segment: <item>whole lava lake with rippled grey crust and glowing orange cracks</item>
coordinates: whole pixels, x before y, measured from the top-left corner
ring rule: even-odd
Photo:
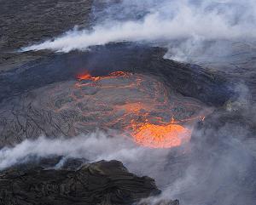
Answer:
[[[154,148],[188,141],[206,107],[167,90],[154,76],[121,71],[104,77],[79,75],[77,81],[34,89],[2,105],[0,145],[42,134],[71,137],[99,128],[118,130]]]

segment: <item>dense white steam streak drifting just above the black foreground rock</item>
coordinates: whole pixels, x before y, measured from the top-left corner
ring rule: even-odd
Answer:
[[[117,148],[113,151],[113,146]],[[16,163],[26,161],[27,156],[49,157],[52,155],[65,157],[85,157],[90,161],[105,158],[113,159],[112,155],[132,157],[133,149],[137,149],[131,140],[123,137],[108,138],[107,134],[96,132],[81,135],[72,139],[47,139],[40,137],[37,140],[24,140],[13,148],[5,147],[0,150],[0,169],[8,168]],[[126,151],[129,152],[126,153]],[[130,155],[127,155],[129,154]],[[133,160],[133,157],[132,157]]]

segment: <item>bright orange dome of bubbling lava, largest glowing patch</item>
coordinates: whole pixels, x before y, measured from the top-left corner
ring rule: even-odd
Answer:
[[[191,131],[178,124],[154,125],[145,123],[133,134],[134,140],[139,145],[150,148],[170,148],[189,141]]]

